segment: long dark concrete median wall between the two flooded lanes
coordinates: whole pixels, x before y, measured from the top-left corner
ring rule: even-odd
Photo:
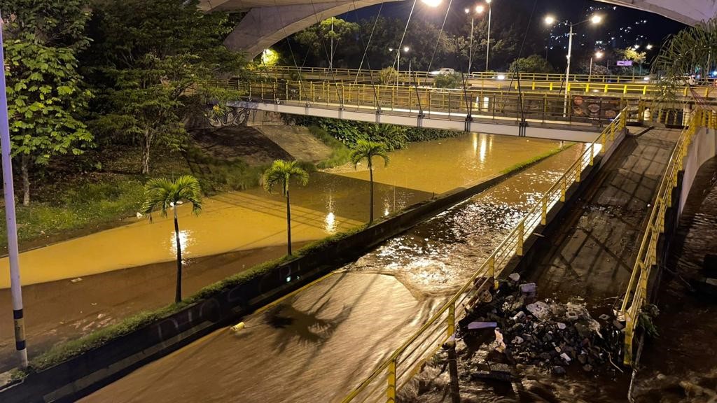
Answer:
[[[527,167],[525,167],[527,168]],[[523,169],[525,169],[523,168]],[[143,364],[164,356],[223,326],[236,323],[256,308],[326,275],[456,203],[516,174],[493,176],[409,207],[316,252],[286,262],[245,283],[216,294],[120,336],[97,349],[0,389],[0,402],[72,402]]]

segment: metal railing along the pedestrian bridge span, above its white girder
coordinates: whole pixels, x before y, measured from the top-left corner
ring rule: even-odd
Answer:
[[[522,120],[607,125],[620,110],[640,108],[640,96],[519,94],[484,89],[440,89],[340,82],[239,81],[227,86],[247,100],[301,106],[324,105],[343,110],[391,111],[393,115],[422,115],[432,119]]]

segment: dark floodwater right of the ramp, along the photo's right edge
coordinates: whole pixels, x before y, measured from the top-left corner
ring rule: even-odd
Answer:
[[[717,300],[688,285],[703,260],[717,254],[717,158],[695,176],[660,285],[657,338],[642,351],[635,382],[638,403],[717,401]]]

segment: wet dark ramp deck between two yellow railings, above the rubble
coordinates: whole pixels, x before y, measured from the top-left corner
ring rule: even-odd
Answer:
[[[538,249],[533,279],[543,297],[587,300],[597,315],[624,292],[679,130],[628,136],[595,183]],[[618,307],[619,308],[619,307]]]

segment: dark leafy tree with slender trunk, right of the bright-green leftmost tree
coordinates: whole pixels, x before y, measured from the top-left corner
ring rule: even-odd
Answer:
[[[227,14],[191,0],[107,0],[95,4],[95,44],[87,59],[101,97],[95,125],[108,136],[141,139],[141,171],[155,146],[180,150],[184,122],[208,103],[232,98],[219,77],[239,75],[244,59],[222,43]]]

